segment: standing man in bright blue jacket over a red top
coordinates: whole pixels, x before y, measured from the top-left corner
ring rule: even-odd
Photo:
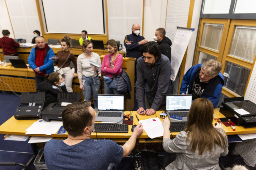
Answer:
[[[35,85],[39,91],[39,84],[45,80],[44,75],[54,70],[54,61],[50,58],[55,57],[55,54],[43,37],[35,38],[35,43],[37,46],[31,49],[28,64],[35,72]]]

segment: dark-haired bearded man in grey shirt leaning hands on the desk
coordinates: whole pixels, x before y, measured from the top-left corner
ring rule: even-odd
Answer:
[[[167,56],[161,54],[159,45],[154,41],[142,47],[141,55],[137,62],[136,99],[139,107],[137,112],[140,115],[150,116],[156,111],[166,109],[166,95],[171,94],[171,65]]]

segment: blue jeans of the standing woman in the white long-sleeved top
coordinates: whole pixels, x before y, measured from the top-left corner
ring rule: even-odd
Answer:
[[[84,86],[84,100],[91,101],[91,94],[93,94],[94,108],[98,108],[98,94],[101,85],[99,76],[85,77],[83,75],[82,84]]]

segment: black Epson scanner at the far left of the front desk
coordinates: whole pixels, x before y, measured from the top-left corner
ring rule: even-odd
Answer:
[[[17,120],[41,119],[45,92],[22,92],[20,105],[14,114]]]

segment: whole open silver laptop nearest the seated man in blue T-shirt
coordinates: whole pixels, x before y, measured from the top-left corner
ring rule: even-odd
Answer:
[[[98,95],[95,121],[122,122],[124,108],[124,95]]]

